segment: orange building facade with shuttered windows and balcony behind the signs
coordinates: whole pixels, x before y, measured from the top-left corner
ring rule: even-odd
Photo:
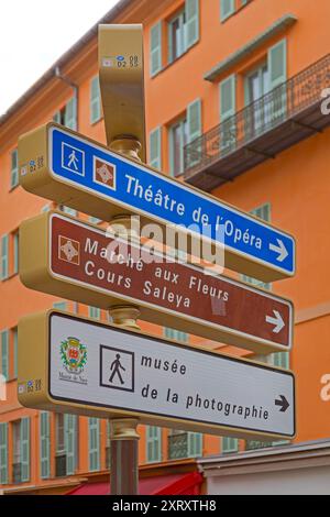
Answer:
[[[330,436],[330,118],[321,111],[330,87],[329,19],[328,0],[312,9],[309,0],[121,0],[101,21],[144,24],[150,164],[297,240],[297,275],[262,285],[293,299],[294,349],[258,358],[297,375],[297,442]],[[106,486],[109,476],[108,422],[30,410],[16,399],[22,316],[55,306],[108,320],[97,308],[28,290],[18,275],[20,222],[54,207],[19,187],[18,139],[56,120],[106,142],[97,62],[94,28],[0,119],[0,372],[7,378],[0,490],[6,494],[69,493],[91,482]],[[65,200],[57,208],[73,212]],[[252,356],[173,329],[141,327]],[[263,447],[153,427],[141,426],[140,432],[141,477],[168,482],[174,474],[190,474],[180,488],[186,493],[200,491],[200,480],[191,481],[196,458]]]

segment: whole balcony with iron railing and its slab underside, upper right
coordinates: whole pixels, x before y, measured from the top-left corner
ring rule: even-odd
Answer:
[[[186,145],[185,180],[211,190],[322,131],[329,87],[330,54]]]

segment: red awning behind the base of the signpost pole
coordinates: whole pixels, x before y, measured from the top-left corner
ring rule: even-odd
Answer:
[[[199,495],[202,476],[198,472],[140,480],[140,495]],[[109,483],[86,483],[67,495],[110,495]]]

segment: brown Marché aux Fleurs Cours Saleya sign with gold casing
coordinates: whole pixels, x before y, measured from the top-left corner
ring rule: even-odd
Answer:
[[[30,288],[103,309],[134,305],[146,321],[207,339],[260,353],[292,348],[290,301],[56,211],[22,223],[20,273]]]

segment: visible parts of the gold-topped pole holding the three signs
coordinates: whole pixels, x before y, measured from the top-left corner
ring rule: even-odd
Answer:
[[[99,26],[99,69],[109,148],[145,162],[145,102],[142,25]],[[140,241],[132,218],[121,215],[110,222],[118,237]],[[109,308],[116,324],[140,329],[134,306]],[[139,493],[138,420],[111,420],[111,495]]]

